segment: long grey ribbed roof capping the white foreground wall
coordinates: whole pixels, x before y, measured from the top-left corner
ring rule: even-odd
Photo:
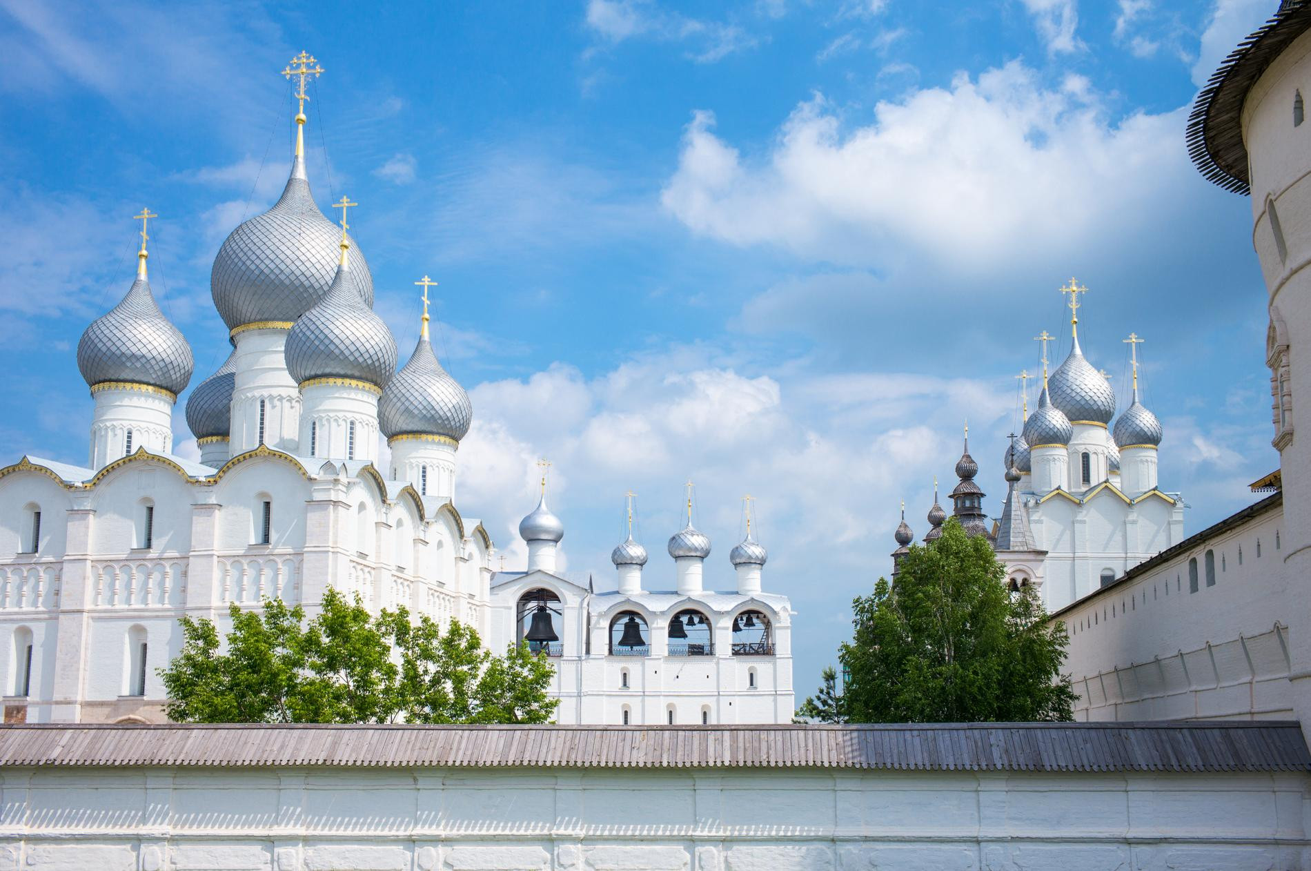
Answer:
[[[1307,771],[1295,721],[0,727],[0,766]]]

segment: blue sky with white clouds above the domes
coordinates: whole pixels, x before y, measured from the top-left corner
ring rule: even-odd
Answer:
[[[648,585],[671,586],[691,477],[730,588],[754,495],[804,697],[888,571],[898,500],[922,535],[932,476],[950,489],[965,418],[1000,510],[1013,376],[1042,329],[1065,357],[1071,274],[1121,397],[1120,340],[1147,340],[1189,533],[1277,466],[1249,202],[1184,148],[1198,87],[1276,5],[0,0],[0,445],[85,462],[73,349],[131,282],[143,205],[193,386],[222,362],[210,264],[286,180],[278,71],[304,49],[326,70],[313,190],[361,203],[402,355],[412,282],[440,282],[439,353],[475,403],[460,510],[520,563],[547,455],[569,572],[614,584],[632,488]]]

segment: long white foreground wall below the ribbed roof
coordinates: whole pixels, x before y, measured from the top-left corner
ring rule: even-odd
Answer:
[[[0,868],[1307,868],[1306,775],[7,769]]]

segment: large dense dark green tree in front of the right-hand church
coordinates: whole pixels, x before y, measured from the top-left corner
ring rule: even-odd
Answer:
[[[1049,626],[1030,590],[1011,594],[987,540],[966,537],[954,518],[852,610],[853,639],[839,653],[851,721],[1074,719],[1074,689],[1061,674],[1065,624]],[[823,690],[802,708],[812,702],[823,710]]]

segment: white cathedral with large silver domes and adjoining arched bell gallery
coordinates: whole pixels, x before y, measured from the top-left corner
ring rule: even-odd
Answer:
[[[616,592],[556,573],[564,526],[545,505],[519,526],[526,572],[493,571],[482,525],[456,508],[472,405],[422,332],[397,348],[372,311],[368,264],[309,190],[302,52],[296,144],[281,199],[240,224],[214,261],[232,354],[186,400],[201,462],[173,453],[173,408],[191,349],[147,275],[77,345],[94,416],[87,466],[25,455],[0,468],[0,679],[5,721],[160,721],[156,669],[181,648],[178,618],[266,598],[313,611],[330,586],[367,607],[404,605],[475,627],[501,652],[551,657],[560,723],[787,723],[791,605],[762,592],[764,548],[733,548],[732,592],[707,589],[711,542],[669,543],[675,589],[646,590],[646,551],[612,556]],[[391,463],[379,463],[380,437]],[[691,500],[688,502],[691,505]]]

